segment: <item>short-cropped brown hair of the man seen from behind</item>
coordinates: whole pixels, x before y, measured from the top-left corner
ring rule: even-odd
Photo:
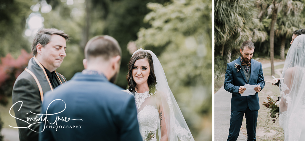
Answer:
[[[108,35],[95,36],[85,46],[85,58],[102,57],[106,61],[117,55],[121,56],[121,48],[116,39]]]

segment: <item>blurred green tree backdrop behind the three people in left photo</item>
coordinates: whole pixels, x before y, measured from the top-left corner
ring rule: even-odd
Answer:
[[[122,48],[116,84],[127,88],[127,43],[135,41],[137,48],[152,50],[159,58],[195,140],[212,139],[212,0],[74,0],[69,6],[66,0],[46,2],[52,10],[41,13],[44,27],[71,37],[57,72],[70,80],[84,69],[88,39],[110,35]],[[0,57],[10,53],[17,58],[21,49],[30,53],[32,37],[24,31],[34,13],[30,7],[37,3],[41,1],[0,1]],[[75,15],[75,9],[82,13]]]

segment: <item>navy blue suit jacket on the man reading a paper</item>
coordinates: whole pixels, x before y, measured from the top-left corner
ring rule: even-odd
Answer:
[[[238,93],[239,87],[245,86],[245,84],[247,83],[246,76],[243,70],[239,69],[239,72],[237,72],[237,68],[235,68],[234,66],[234,63],[241,64],[239,58],[227,64],[227,70],[224,79],[224,89],[232,93],[231,110],[244,111],[247,109],[248,106],[249,109],[252,111],[259,110],[260,103],[257,93],[255,95],[249,96],[241,96],[241,94]],[[251,59],[251,74],[249,83],[247,84],[258,84],[260,85],[261,90],[265,86],[262,63],[254,59]]]

